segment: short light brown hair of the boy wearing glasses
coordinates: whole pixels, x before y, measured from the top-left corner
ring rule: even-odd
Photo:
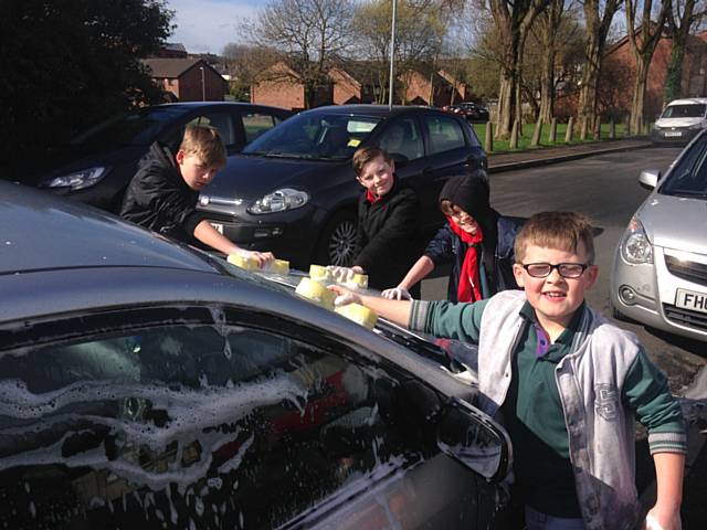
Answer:
[[[516,236],[516,263],[524,262],[529,245],[577,253],[580,243],[584,243],[588,263],[594,263],[594,235],[584,215],[577,212],[536,213]]]

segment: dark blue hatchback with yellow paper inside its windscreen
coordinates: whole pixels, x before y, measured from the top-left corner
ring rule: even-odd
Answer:
[[[437,195],[450,177],[487,167],[466,120],[429,107],[341,105],[294,116],[229,158],[200,209],[231,240],[273,251],[299,267],[350,265],[361,186],[351,157],[380,145],[395,176],[415,189],[423,230],[442,225]]]

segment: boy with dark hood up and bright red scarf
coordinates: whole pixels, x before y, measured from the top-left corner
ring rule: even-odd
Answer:
[[[486,174],[477,170],[452,177],[440,193],[440,209],[446,225],[398,287],[383,290],[382,296],[410,298],[412,287],[446,263],[452,263],[450,301],[476,301],[518,288],[513,275],[513,245],[520,225],[490,208]]]

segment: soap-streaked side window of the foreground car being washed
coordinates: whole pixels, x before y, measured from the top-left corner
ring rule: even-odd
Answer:
[[[0,521],[272,528],[419,459],[384,370],[214,315],[1,357]]]

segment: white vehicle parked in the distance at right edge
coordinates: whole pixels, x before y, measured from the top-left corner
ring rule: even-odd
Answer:
[[[651,140],[654,144],[687,144],[707,128],[707,98],[675,99],[655,121]]]

